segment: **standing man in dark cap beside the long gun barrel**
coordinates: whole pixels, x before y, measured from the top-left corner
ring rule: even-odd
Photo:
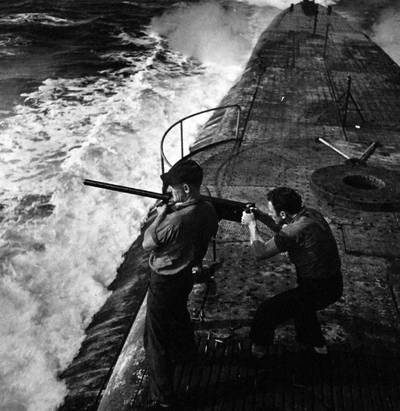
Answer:
[[[218,219],[213,205],[200,197],[203,171],[195,161],[179,161],[161,179],[172,204],[157,207],[143,238],[151,269],[144,346],[150,380],[148,409],[175,410],[174,362],[195,352],[187,310],[192,268],[201,265]]]

